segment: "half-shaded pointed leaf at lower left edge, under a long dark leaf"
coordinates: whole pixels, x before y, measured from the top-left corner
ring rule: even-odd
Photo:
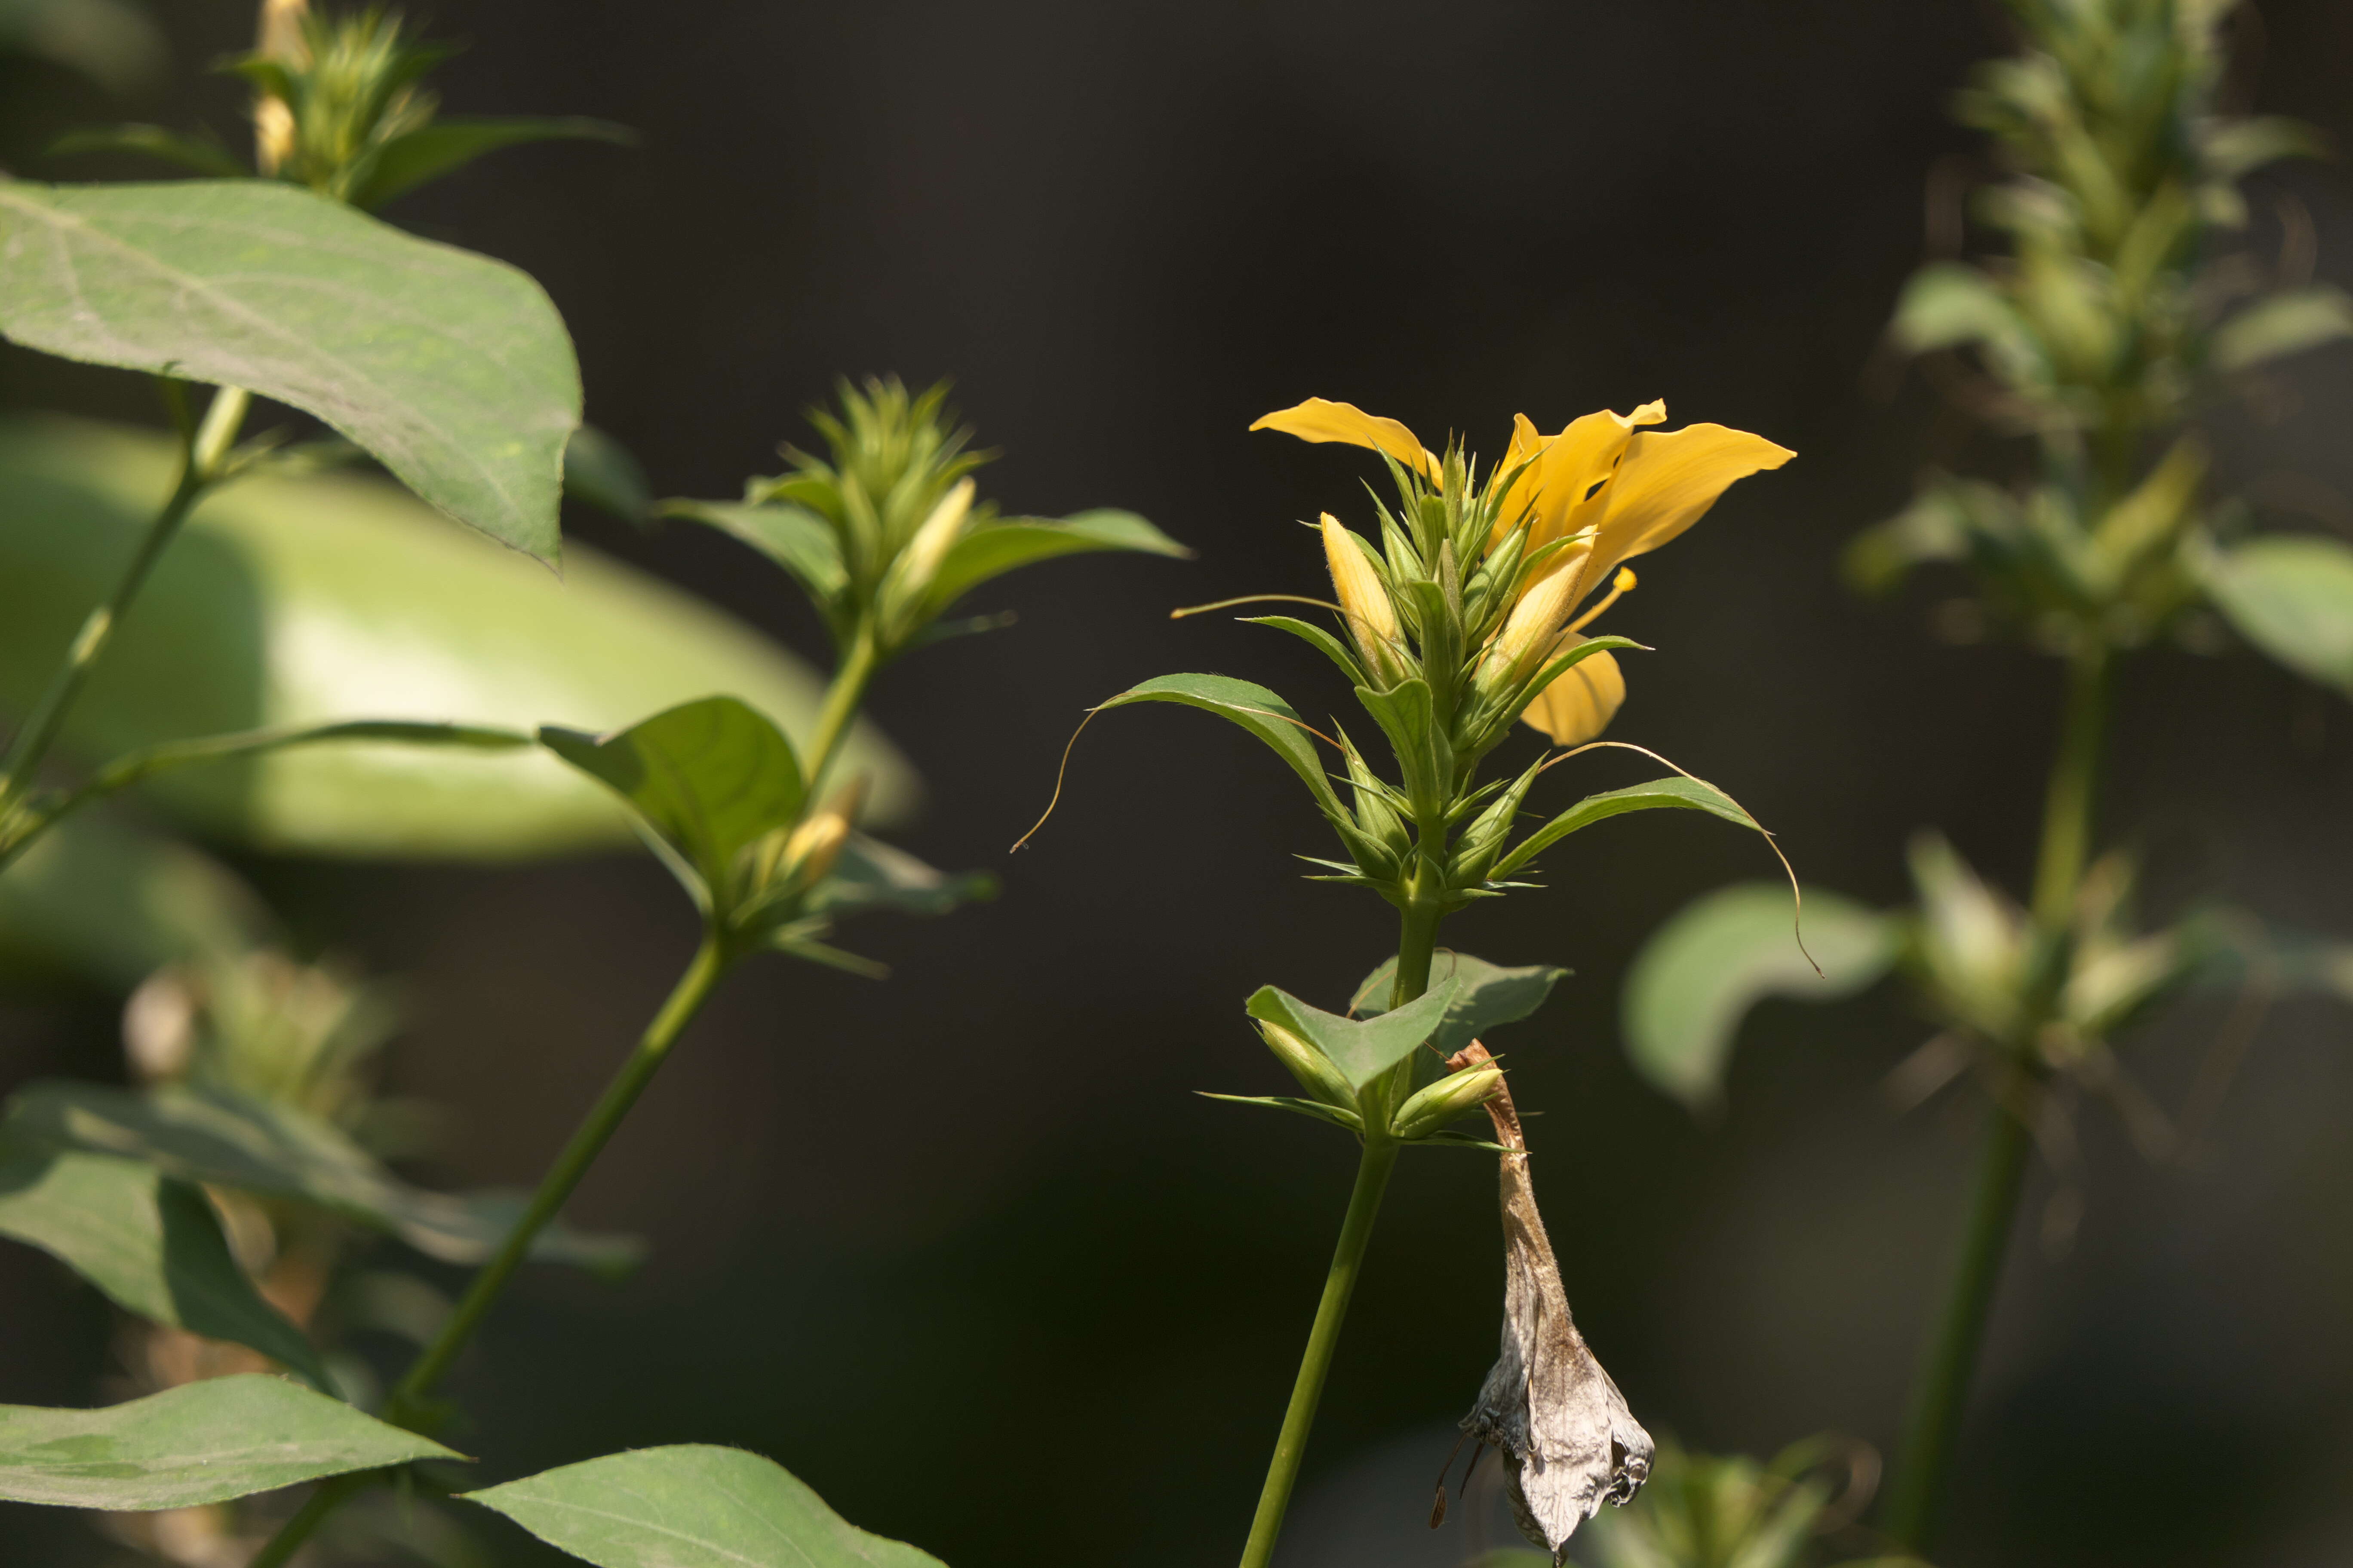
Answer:
[[[259,1349],[327,1387],[311,1340],[228,1253],[205,1194],[155,1166],[75,1150],[0,1152],[0,1234],[49,1253],[125,1312]]]

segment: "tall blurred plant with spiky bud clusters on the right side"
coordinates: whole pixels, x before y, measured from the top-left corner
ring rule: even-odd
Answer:
[[[2341,292],[2268,277],[2228,244],[2247,221],[2240,176],[2311,153],[2285,120],[2221,108],[2231,0],[2012,0],[2024,47],[1984,66],[1958,113],[1986,129],[2005,176],[1974,214],[2000,235],[1977,263],[1920,270],[1894,341],[1941,355],[1955,397],[2017,437],[2000,477],[1932,475],[1899,517],[1847,550],[1866,590],[1918,567],[1960,567],[1948,625],[2012,635],[2064,668],[2064,717],[2026,903],[1979,879],[1934,835],[1913,846],[1918,903],[1878,914],[1809,893],[1824,976],[1779,952],[1786,903],[1727,889],[1675,917],[1626,985],[1626,1039],[1666,1091],[1720,1093],[1746,1009],[1765,994],[1828,999],[1901,966],[1939,1034],[1897,1074],[1911,1100],[1974,1072],[1993,1095],[1986,1147],[1887,1493],[1885,1523],[1927,1549],[1979,1340],[2035,1135],[2068,1140],[2082,1095],[2120,1107],[2144,1147],[2167,1121],[2111,1041],[2202,969],[2245,959],[2245,917],[2144,931],[2132,860],[2094,856],[2097,780],[2120,663],[2174,639],[2219,642],[2217,614],[2289,670],[2353,693],[2353,545],[2257,534],[2209,475],[2200,414],[2271,360],[2353,334]],[[2327,983],[2327,961],[2257,959],[2271,983]],[[2339,987],[2341,990],[2341,987]],[[2049,1220],[2071,1225],[2061,1197]]]

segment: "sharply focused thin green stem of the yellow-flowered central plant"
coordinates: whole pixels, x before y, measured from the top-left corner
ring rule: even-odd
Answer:
[[[1405,1006],[1428,990],[1431,954],[1435,950],[1438,907],[1407,905],[1398,931],[1398,983],[1391,990],[1393,1009]],[[1412,1063],[1402,1063],[1398,1072],[1412,1074]],[[1292,1403],[1282,1410],[1275,1458],[1266,1465],[1266,1486],[1259,1488],[1259,1512],[1249,1519],[1242,1568],[1266,1568],[1273,1561],[1275,1540],[1282,1535],[1282,1514],[1289,1509],[1292,1488],[1299,1483],[1299,1462],[1306,1458],[1308,1432],[1315,1427],[1315,1406],[1322,1401],[1322,1385],[1332,1373],[1332,1356],[1339,1352],[1339,1331],[1348,1319],[1348,1298],[1355,1295],[1355,1279],[1365,1267],[1365,1248],[1372,1244],[1372,1222],[1381,1213],[1381,1194],[1388,1192],[1388,1173],[1398,1164],[1398,1140],[1388,1135],[1386,1121],[1391,1091],[1393,1084],[1384,1077],[1358,1098],[1365,1110],[1365,1152],[1355,1166],[1355,1190],[1348,1192],[1348,1218],[1339,1225],[1339,1246],[1332,1248],[1325,1293],[1315,1305],[1315,1326],[1308,1328],[1308,1347],[1299,1356],[1299,1380],[1292,1382]]]

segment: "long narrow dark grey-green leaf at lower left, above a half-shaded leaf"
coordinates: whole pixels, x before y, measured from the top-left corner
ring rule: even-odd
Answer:
[[[219,1086],[139,1095],[99,1084],[31,1084],[9,1095],[0,1138],[12,1150],[115,1154],[191,1182],[318,1204],[442,1262],[489,1260],[522,1211],[506,1194],[412,1187],[327,1121]],[[638,1244],[551,1225],[532,1241],[532,1258],[614,1272],[638,1260]]]

